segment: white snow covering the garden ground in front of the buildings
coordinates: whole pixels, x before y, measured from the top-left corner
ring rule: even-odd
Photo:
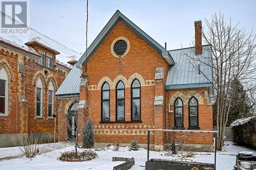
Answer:
[[[140,149],[139,151],[129,151],[129,148],[120,147],[119,151],[113,151],[113,147],[109,147],[105,151],[96,151],[98,159],[87,162],[62,162],[58,161],[61,152],[74,150],[74,145],[69,142],[58,142],[50,144],[41,144],[45,153],[37,155],[32,161],[20,157],[18,147],[12,148],[0,148],[0,169],[93,169],[93,170],[105,170],[113,169],[122,162],[112,162],[112,157],[134,157],[135,165],[132,170],[145,169],[143,166],[146,161],[146,150]],[[78,149],[81,151],[83,149]],[[93,149],[94,150],[94,149]],[[217,169],[233,169],[233,165],[236,163],[236,156],[241,151],[251,151],[247,148],[233,145],[229,142],[229,145],[224,146],[224,151],[217,152]],[[253,151],[255,153],[255,151]],[[177,159],[177,157],[164,156],[166,152],[150,151],[150,158],[160,159]],[[214,153],[197,152],[193,161],[214,163]],[[13,158],[4,159],[12,156]],[[17,158],[15,158],[15,156]],[[140,166],[141,165],[141,166]]]

